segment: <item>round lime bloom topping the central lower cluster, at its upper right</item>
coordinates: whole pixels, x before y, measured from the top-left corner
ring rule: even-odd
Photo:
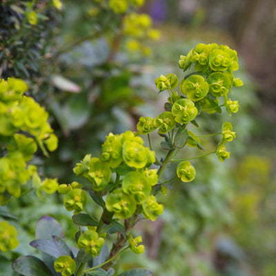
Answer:
[[[141,144],[126,141],[123,146],[123,159],[132,168],[144,168],[148,163],[148,150]]]

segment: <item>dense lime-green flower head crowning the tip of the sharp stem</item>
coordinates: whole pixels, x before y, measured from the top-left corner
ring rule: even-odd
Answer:
[[[184,71],[191,66],[198,72],[181,81],[179,89],[192,101],[198,101],[201,111],[220,112],[218,97],[224,97],[229,115],[237,112],[237,101],[228,99],[233,86],[242,86],[233,71],[239,68],[237,52],[225,45],[199,43],[188,55],[180,56],[179,67]]]

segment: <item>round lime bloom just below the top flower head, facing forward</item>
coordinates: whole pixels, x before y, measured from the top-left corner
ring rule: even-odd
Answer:
[[[179,124],[188,124],[197,117],[197,108],[190,99],[179,99],[172,106],[172,115]]]

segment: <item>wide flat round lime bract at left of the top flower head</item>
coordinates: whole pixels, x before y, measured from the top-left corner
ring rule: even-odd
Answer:
[[[191,75],[187,79],[181,81],[179,88],[182,94],[187,95],[188,99],[199,101],[208,94],[209,85],[204,77],[200,75]]]

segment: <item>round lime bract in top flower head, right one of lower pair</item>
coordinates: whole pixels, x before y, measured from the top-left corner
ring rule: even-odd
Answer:
[[[221,97],[228,93],[230,79],[223,72],[214,72],[206,81],[209,83],[209,91],[214,97]]]

